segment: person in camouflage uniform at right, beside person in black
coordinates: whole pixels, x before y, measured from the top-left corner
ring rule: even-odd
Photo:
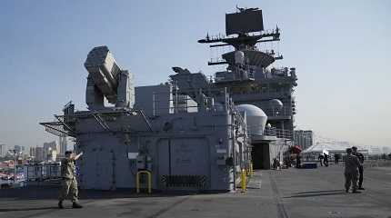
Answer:
[[[346,193],[349,192],[350,184],[352,183],[352,193],[357,192],[357,176],[358,176],[358,166],[361,163],[358,161],[358,158],[352,154],[351,148],[346,148],[346,162],[345,162],[345,188]]]

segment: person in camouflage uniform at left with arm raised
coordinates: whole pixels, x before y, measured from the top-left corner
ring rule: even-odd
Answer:
[[[65,158],[61,162],[61,177],[63,178],[63,181],[58,199],[58,207],[60,209],[64,208],[63,201],[69,192],[72,194],[72,207],[82,208],[82,205],[78,203],[77,181],[75,175],[75,160],[79,159],[81,155],[83,155],[83,153],[76,155],[71,151],[66,151]]]

